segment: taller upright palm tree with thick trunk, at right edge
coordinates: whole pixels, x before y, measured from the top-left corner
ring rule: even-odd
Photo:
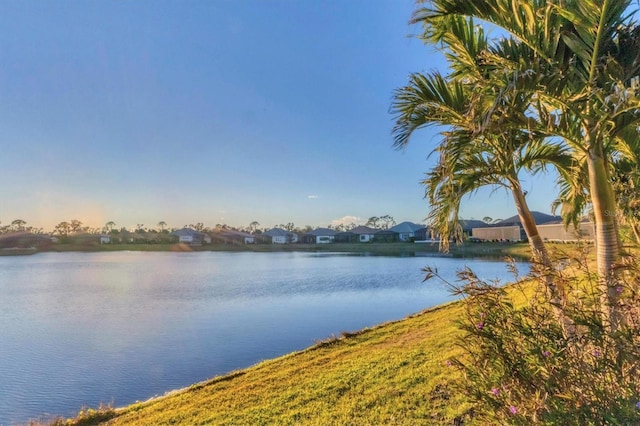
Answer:
[[[549,137],[560,137],[587,170],[587,190],[596,222],[601,310],[614,331],[621,321],[614,274],[619,260],[616,200],[610,180],[613,156],[638,139],[638,28],[627,14],[629,0],[433,0],[414,15],[425,38],[442,41],[452,22],[474,17],[502,28],[506,43],[527,51],[520,61],[478,57],[495,69],[533,78],[520,87],[531,94],[521,112]],[[467,73],[469,74],[469,73]],[[637,144],[636,144],[637,146]]]

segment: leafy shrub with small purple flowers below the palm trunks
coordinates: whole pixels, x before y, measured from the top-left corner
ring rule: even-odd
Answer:
[[[464,375],[460,384],[474,402],[481,424],[640,424],[640,326],[638,259],[626,265],[624,294],[627,321],[606,332],[593,274],[584,257],[563,271],[534,265],[526,280],[511,269],[516,284],[501,287],[480,280],[471,270],[447,283],[461,295],[465,331],[459,342],[465,356],[450,360]],[[426,269],[427,279],[439,277]],[[564,336],[544,291],[553,274],[569,296],[563,307],[576,332]],[[533,284],[533,285],[532,285]]]

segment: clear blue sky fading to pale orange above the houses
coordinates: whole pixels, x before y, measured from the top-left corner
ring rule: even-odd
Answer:
[[[0,221],[52,230],[421,222],[435,131],[392,148],[410,0],[0,2]],[[548,213],[553,179],[527,179]],[[488,197],[491,196],[489,199]],[[515,214],[480,191],[464,218]]]

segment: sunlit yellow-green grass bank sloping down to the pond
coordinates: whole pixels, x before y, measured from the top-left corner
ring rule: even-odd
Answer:
[[[458,255],[527,252],[526,245],[469,246],[457,248]],[[461,354],[456,321],[462,314],[462,305],[454,302],[343,333],[306,350],[117,409],[109,423],[452,424],[471,407],[455,387],[460,373],[447,365]]]

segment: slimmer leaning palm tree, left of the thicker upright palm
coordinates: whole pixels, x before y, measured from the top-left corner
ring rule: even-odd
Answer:
[[[448,250],[450,238],[462,237],[458,223],[462,198],[482,186],[503,187],[513,195],[535,260],[550,270],[551,260],[528,207],[520,173],[535,173],[547,165],[564,167],[569,157],[563,147],[546,142],[544,133],[531,128],[532,120],[524,114],[531,95],[520,91],[511,76],[502,81],[503,75],[493,72],[495,64],[486,60],[491,55],[513,58],[522,55],[522,49],[509,43],[490,46],[473,19],[456,18],[449,24],[451,30],[441,31],[438,38],[447,48],[453,71],[449,77],[437,72],[414,74],[409,85],[396,91],[394,145],[405,147],[422,127],[447,126],[435,149],[439,161],[423,181],[431,205],[428,219],[441,235],[443,250]],[[480,54],[483,61],[477,58]],[[572,324],[560,308],[563,289],[556,287],[549,274],[546,287],[565,333],[571,333]]]

